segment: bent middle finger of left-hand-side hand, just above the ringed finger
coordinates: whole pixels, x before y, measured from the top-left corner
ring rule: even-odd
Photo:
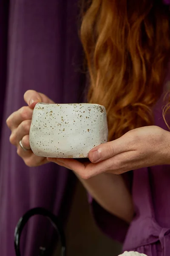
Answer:
[[[19,141],[23,139],[27,134],[29,134],[31,126],[31,120],[24,120],[20,123],[17,129],[14,129],[14,131],[11,133],[10,136],[10,142],[13,145],[18,145]],[[27,143],[28,144],[28,143]],[[30,149],[30,146],[28,146]]]

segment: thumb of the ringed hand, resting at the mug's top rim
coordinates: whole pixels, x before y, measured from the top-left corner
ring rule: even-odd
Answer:
[[[54,103],[43,93],[38,93],[35,90],[27,90],[24,94],[24,100],[30,108],[34,108],[38,102]]]

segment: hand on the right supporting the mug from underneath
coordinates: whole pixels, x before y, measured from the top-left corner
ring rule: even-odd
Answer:
[[[122,137],[93,148],[88,162],[48,158],[48,161],[73,170],[83,179],[102,172],[122,174],[142,167],[170,164],[170,132],[147,126],[127,132]]]

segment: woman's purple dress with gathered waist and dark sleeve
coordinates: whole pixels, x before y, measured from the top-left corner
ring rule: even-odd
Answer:
[[[169,84],[170,65],[164,81],[164,93]],[[155,125],[168,131],[162,116],[164,93],[154,108],[154,116]],[[96,223],[112,239],[124,242],[123,251],[138,251],[147,256],[169,256],[170,165],[142,168],[127,172],[126,176],[136,212],[130,226],[106,212],[90,197]]]

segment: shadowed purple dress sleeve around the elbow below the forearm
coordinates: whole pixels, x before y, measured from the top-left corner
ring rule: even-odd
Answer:
[[[123,177],[131,191],[133,173],[128,172],[127,174],[123,175]],[[91,197],[91,195],[88,195],[88,202],[91,206],[92,215],[99,229],[111,239],[123,243],[129,228],[129,224],[103,209],[94,200],[94,198]]]

